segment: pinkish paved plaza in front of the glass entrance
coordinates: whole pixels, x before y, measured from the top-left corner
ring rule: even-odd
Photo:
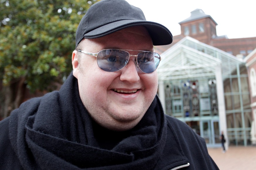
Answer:
[[[220,170],[256,170],[256,146],[230,146],[226,153],[221,148],[208,148],[208,152]]]

